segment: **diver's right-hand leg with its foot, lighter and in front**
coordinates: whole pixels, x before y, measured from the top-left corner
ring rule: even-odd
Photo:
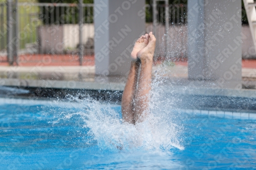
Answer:
[[[148,113],[148,103],[150,102],[150,90],[152,83],[152,65],[153,56],[156,46],[156,38],[152,34],[148,34],[148,44],[137,53],[141,61],[140,77],[138,82],[138,89],[135,93],[134,103],[134,122],[143,122]]]

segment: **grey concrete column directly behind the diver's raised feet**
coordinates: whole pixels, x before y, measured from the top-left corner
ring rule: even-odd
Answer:
[[[133,43],[145,31],[144,6],[144,0],[94,1],[97,75],[127,75]]]

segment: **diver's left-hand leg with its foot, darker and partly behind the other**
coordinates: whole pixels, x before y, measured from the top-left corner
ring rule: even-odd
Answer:
[[[137,53],[148,44],[148,34],[141,36],[134,45],[131,53],[131,67],[127,78],[126,85],[122,95],[122,118],[124,122],[135,124],[135,110],[134,110],[134,95],[136,90],[136,82],[138,77],[138,69],[140,61],[137,58]]]

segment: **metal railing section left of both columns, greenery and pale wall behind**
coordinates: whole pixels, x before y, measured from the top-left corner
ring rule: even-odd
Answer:
[[[14,30],[11,32],[7,31],[7,5],[0,6],[5,9],[0,11],[2,61],[6,61],[8,55],[10,65],[12,62],[17,65],[47,64],[49,60],[55,65],[59,61],[83,65],[84,56],[93,55],[93,4],[12,3],[12,6],[17,7],[18,15],[17,19],[11,17],[10,27]],[[7,36],[8,32],[13,38]],[[17,42],[13,41],[15,37]],[[10,46],[17,50],[12,57],[8,52]]]

